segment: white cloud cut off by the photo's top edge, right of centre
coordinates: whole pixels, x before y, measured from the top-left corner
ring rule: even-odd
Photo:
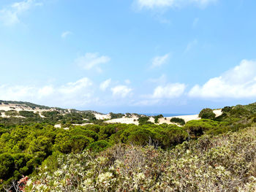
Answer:
[[[206,7],[208,4],[214,3],[215,1],[217,0],[135,0],[135,4],[137,4],[140,9],[154,9],[157,7],[181,7],[187,4]]]

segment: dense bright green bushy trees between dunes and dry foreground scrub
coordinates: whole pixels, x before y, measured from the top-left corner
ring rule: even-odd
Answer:
[[[105,126],[70,126],[64,130],[36,123],[0,129],[0,177],[4,185],[22,175],[37,174],[36,168],[53,154],[98,153],[123,143],[162,148],[173,147],[188,138],[177,126],[110,124]]]

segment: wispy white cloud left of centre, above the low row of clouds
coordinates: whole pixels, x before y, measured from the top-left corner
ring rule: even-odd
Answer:
[[[84,56],[80,56],[75,59],[75,64],[83,69],[89,70],[96,68],[98,72],[102,72],[102,69],[99,67],[100,64],[106,64],[110,61],[108,56],[102,55],[99,53],[86,53]]]

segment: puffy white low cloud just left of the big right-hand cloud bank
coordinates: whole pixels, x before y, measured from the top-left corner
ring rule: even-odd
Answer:
[[[159,85],[154,89],[154,99],[173,99],[181,96],[185,91],[186,85],[182,83],[169,83],[165,86]]]

